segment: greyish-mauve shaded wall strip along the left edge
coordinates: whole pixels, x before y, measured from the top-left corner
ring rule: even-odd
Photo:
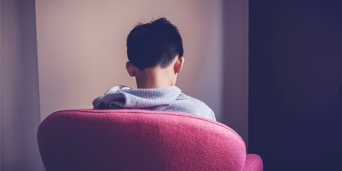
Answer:
[[[34,0],[1,0],[1,171],[41,170]]]

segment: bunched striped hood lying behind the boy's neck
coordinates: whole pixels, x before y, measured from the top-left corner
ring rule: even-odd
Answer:
[[[176,86],[157,89],[132,89],[114,86],[103,96],[95,98],[93,109],[145,109],[163,110],[172,104],[181,90]]]

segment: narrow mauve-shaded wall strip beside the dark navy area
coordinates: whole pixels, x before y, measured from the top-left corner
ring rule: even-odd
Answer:
[[[248,0],[223,1],[223,123],[248,153]]]

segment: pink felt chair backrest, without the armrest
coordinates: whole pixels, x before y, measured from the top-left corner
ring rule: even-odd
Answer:
[[[242,170],[246,145],[231,128],[196,115],[70,109],[45,118],[38,145],[53,170]]]

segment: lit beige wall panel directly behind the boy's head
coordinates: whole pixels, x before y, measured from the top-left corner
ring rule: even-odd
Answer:
[[[92,108],[110,87],[136,88],[126,37],[139,18],[170,19],[184,41],[177,85],[222,118],[221,0],[36,0],[41,120],[56,110]]]

